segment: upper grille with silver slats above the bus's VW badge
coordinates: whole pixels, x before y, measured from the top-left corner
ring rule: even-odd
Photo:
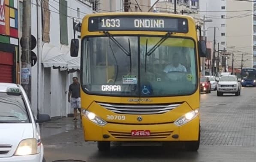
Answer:
[[[120,114],[162,114],[180,106],[180,104],[146,105],[146,104],[108,104],[99,103],[102,107]]]

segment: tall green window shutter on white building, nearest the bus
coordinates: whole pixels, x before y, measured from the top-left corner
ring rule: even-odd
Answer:
[[[67,1],[60,0],[60,43],[66,45],[69,44],[67,12]]]

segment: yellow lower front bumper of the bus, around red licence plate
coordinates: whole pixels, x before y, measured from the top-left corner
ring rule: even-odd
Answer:
[[[83,116],[85,141],[197,141],[199,139],[199,117],[177,126],[173,122],[167,124],[115,124],[105,126],[94,124]],[[132,136],[132,131],[150,131],[149,136]]]

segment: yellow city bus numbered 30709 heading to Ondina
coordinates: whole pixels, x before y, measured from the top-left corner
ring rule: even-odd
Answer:
[[[206,43],[190,16],[88,14],[81,26],[81,116],[100,151],[181,142],[198,150],[200,57]],[[78,40],[71,41],[71,56]]]

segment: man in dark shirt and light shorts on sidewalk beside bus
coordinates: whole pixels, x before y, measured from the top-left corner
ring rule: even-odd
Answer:
[[[71,96],[71,99],[70,99]],[[69,98],[68,101],[71,104],[71,108],[74,109],[74,119],[77,121],[77,109],[81,113],[81,98],[80,98],[80,84],[77,77],[73,77],[73,83],[69,85]]]

